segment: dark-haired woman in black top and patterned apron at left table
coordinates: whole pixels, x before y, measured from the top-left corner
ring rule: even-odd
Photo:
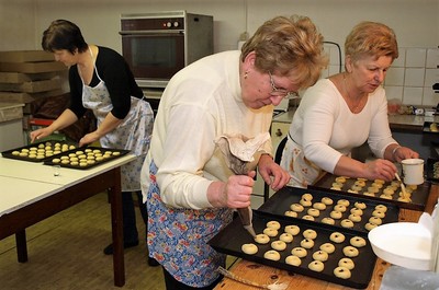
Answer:
[[[69,67],[70,107],[48,127],[31,132],[32,141],[49,136],[78,120],[87,109],[98,127],[79,140],[79,146],[99,141],[103,148],[131,150],[136,160],[123,165],[122,200],[124,246],[138,244],[132,193],[140,198],[139,174],[149,149],[154,115],[124,58],[113,49],[89,45],[80,28],[67,20],[56,20],[44,32],[42,47]],[[143,217],[146,208],[139,202]],[[112,254],[109,245],[105,254]]]

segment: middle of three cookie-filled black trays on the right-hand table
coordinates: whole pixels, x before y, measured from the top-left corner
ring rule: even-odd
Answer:
[[[399,214],[399,208],[389,202],[297,187],[280,189],[259,210],[364,233],[397,222]]]

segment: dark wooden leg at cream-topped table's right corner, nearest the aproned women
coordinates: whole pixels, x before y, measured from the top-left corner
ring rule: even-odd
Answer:
[[[116,185],[109,189],[111,200],[111,225],[113,234],[113,270],[114,285],[122,287],[125,285],[125,265],[123,247],[123,218],[122,218],[122,193],[121,193],[121,171],[114,170]]]

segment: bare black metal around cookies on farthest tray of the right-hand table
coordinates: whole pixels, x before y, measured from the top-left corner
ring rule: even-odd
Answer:
[[[323,176],[315,185],[309,185],[308,188],[313,189],[319,189],[319,190],[326,190],[330,193],[342,193],[344,195],[349,195],[349,196],[357,196],[357,197],[362,197],[367,199],[373,199],[373,200],[380,200],[380,201],[385,201],[385,202],[391,202],[399,208],[407,208],[407,209],[413,209],[413,210],[419,210],[424,211],[428,195],[430,194],[430,184],[425,182],[421,185],[418,185],[417,188],[412,193],[412,201],[410,202],[405,202],[405,201],[399,201],[397,200],[399,197],[399,192],[401,189],[396,190],[395,194],[393,195],[393,199],[385,199],[381,198],[380,195],[382,195],[383,189],[390,184],[390,183],[384,183],[383,187],[375,194],[375,196],[367,196],[364,193],[368,192],[368,187],[370,187],[373,183],[373,181],[365,181],[365,186],[363,186],[363,190],[359,192],[358,194],[349,193],[348,190],[351,188],[351,186],[354,184],[357,178],[347,178],[346,183],[344,184],[344,187],[341,187],[340,190],[334,190],[330,189],[333,187],[333,183],[335,183],[336,178],[338,176],[333,175],[333,174],[326,174]]]

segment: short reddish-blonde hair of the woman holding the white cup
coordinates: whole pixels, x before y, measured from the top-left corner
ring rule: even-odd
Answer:
[[[345,42],[345,55],[357,61],[364,56],[375,58],[390,56],[392,60],[398,57],[396,35],[389,26],[371,21],[357,24]]]

